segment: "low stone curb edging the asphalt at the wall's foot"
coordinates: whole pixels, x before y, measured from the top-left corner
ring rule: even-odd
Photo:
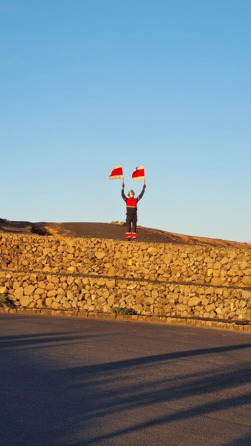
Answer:
[[[235,322],[216,322],[203,321],[202,319],[182,319],[170,318],[163,316],[140,316],[129,314],[111,314],[111,313],[94,313],[88,311],[64,311],[64,310],[50,310],[37,308],[1,308],[0,313],[17,313],[17,314],[40,314],[41,316],[63,316],[70,318],[90,318],[90,319],[110,319],[117,321],[132,321],[132,322],[147,322],[147,323],[161,323],[168,325],[187,325],[200,328],[218,328],[220,330],[244,331],[251,333],[251,325],[235,324]]]

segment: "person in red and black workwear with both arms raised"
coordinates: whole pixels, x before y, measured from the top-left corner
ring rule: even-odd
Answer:
[[[144,195],[144,190],[146,188],[146,185],[144,184],[142,192],[137,198],[134,198],[135,193],[133,190],[129,190],[128,197],[126,198],[124,194],[124,183],[122,185],[122,191],[121,195],[123,200],[126,202],[126,225],[127,225],[127,232],[126,232],[126,238],[130,242],[132,240],[137,240],[137,204],[138,201],[140,201],[140,198]],[[132,234],[131,234],[132,231]]]

